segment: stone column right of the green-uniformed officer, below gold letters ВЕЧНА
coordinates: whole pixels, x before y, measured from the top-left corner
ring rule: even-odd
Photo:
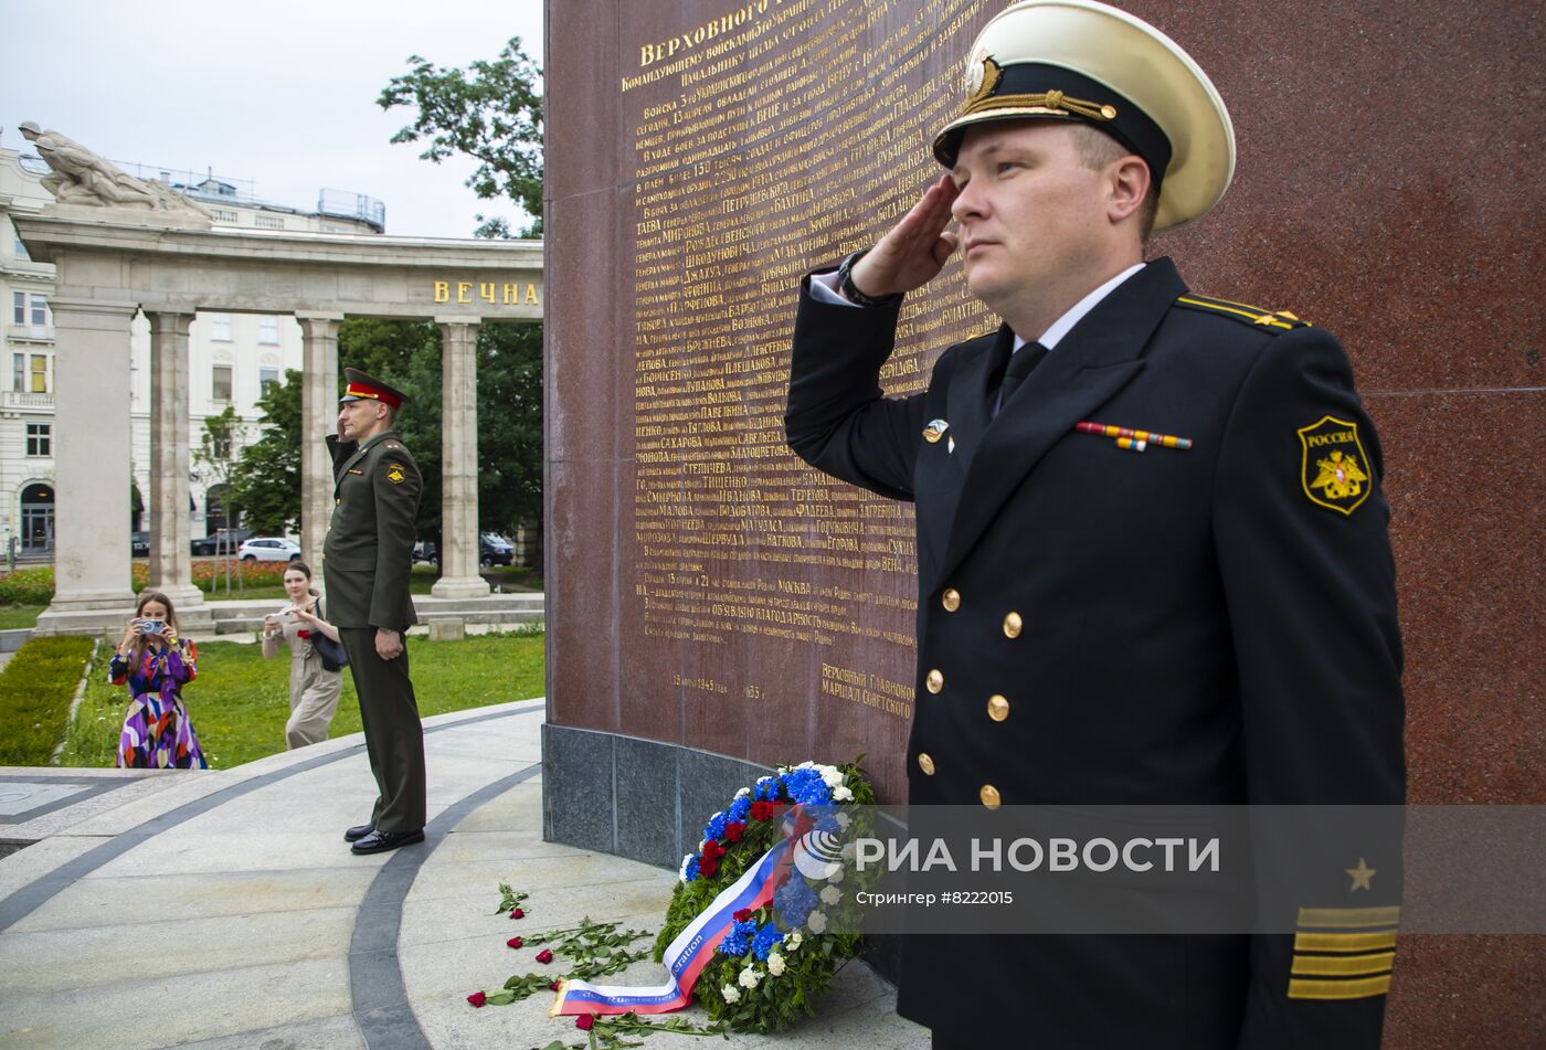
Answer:
[[[478,322],[441,326],[441,578],[438,598],[481,598],[478,575]],[[408,407],[413,411],[413,407]]]

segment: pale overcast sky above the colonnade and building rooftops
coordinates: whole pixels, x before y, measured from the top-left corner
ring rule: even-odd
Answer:
[[[493,59],[512,36],[543,65],[543,0],[0,0],[0,145],[31,152],[22,121],[57,128],[155,175],[182,169],[314,210],[323,187],[386,204],[386,232],[470,237],[504,215],[462,182],[473,164],[393,145],[411,121],[376,97],[419,54]]]

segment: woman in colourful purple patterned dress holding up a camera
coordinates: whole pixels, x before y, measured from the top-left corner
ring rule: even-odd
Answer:
[[[119,769],[209,769],[182,705],[182,687],[193,680],[196,663],[198,649],[178,637],[172,600],[159,591],[141,594],[108,662],[113,685],[128,684]]]

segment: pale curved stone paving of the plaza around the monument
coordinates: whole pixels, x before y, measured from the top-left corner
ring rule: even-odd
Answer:
[[[342,840],[374,799],[359,735],[206,773],[0,769],[0,843],[15,849],[0,858],[0,1050],[581,1042],[547,994],[482,1010],[465,996],[543,968],[506,946],[513,932],[581,917],[659,929],[676,877],[543,841],[544,713],[427,719],[427,841],[376,857]],[[519,923],[493,914],[501,881],[530,894]],[[608,980],[662,974],[646,960]],[[730,1045],[926,1047],[894,1007],[853,963],[818,1018]]]

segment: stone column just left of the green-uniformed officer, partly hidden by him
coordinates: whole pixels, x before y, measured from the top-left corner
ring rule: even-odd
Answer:
[[[322,541],[332,520],[332,456],[325,438],[339,421],[339,322],[343,314],[295,314],[301,331],[300,551],[322,571]]]

